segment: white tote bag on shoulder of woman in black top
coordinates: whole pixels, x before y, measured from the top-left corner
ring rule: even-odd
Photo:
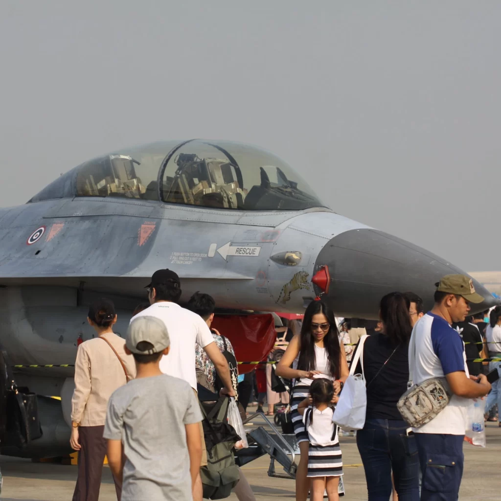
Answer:
[[[364,375],[364,343],[368,337],[366,334],[360,338],[357,352],[351,364],[350,375],[343,386],[339,402],[336,404],[332,416],[335,424],[348,430],[361,430],[365,424],[367,392]],[[359,359],[362,374],[355,374]]]

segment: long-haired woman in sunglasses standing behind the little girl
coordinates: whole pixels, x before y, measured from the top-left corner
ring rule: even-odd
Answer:
[[[312,301],[305,311],[301,333],[291,340],[276,370],[278,376],[296,380],[291,402],[294,432],[301,450],[296,472],[296,501],[306,501],[310,486],[307,479],[309,438],[298,405],[308,396],[314,378],[330,379],[337,396],[348,373],[334,312],[322,301]]]

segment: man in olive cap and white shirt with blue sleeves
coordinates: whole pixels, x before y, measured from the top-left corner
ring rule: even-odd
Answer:
[[[463,473],[469,399],[486,395],[490,384],[483,374],[470,378],[464,344],[451,327],[453,322],[464,321],[470,311],[469,303],[481,303],[482,296],[475,292],[473,281],[464,275],[447,275],[435,286],[435,306],[412,331],[409,373],[414,384],[445,377],[452,396],[437,416],[413,431],[423,474],[421,501],[452,501],[458,498]],[[408,440],[409,448],[414,447],[411,436]]]

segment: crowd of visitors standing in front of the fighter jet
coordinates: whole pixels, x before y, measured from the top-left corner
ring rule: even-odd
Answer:
[[[71,445],[79,452],[79,466],[74,501],[98,500],[106,454],[119,500],[201,501],[200,467],[207,464],[207,453],[197,384],[230,397],[239,387],[252,386],[230,371],[228,357],[234,359],[234,351],[210,328],[215,310],[210,296],[197,293],[182,308],[179,278],[169,270],[155,272],[147,291],[149,305],[134,312],[125,344],[113,333],[113,303],[100,300],[89,309],[88,322],[98,336],[79,346],[75,364]],[[322,300],[307,307],[275,370],[292,381],[290,411],[301,452],[297,501],[309,495],[319,501],[325,491],[330,501],[339,499],[343,462],[333,417],[350,373],[362,373],[366,381],[365,425],[356,441],[369,501],[387,501],[392,491],[401,501],[457,499],[466,408],[469,399],[491,389],[482,363],[466,362],[463,340],[479,339],[466,345],[475,350],[473,358],[501,357],[501,309],[493,310],[484,326],[479,325],[483,317],[467,319],[469,303],[483,298],[460,275],[443,277],[434,300],[425,313],[415,294],[387,294],[369,336],[349,320],[338,324]],[[470,325],[479,336],[476,331],[467,335]],[[271,364],[267,370],[270,379]],[[397,402],[409,381],[415,385],[432,378],[446,379],[448,404],[423,426],[409,428]],[[496,383],[486,410],[501,399]],[[273,413],[272,406],[288,401],[288,394],[268,389]],[[244,412],[248,395],[240,400]],[[241,470],[235,493],[240,501],[255,500]]]

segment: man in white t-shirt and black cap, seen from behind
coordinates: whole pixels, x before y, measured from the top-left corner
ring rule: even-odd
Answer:
[[[142,316],[156,317],[164,322],[169,333],[170,352],[168,357],[164,356],[160,360],[160,370],[169,376],[184,379],[196,392],[195,343],[198,343],[214,364],[225,386],[221,393],[235,396],[228,362],[214,342],[207,324],[199,315],[177,304],[181,298],[181,283],[177,274],[171,270],[157,270],[147,289],[151,306],[138,313],[131,322]],[[207,452],[201,423],[200,433],[203,449],[200,466],[205,466]],[[202,501],[202,490],[202,481],[198,475],[193,490],[194,501]]]

